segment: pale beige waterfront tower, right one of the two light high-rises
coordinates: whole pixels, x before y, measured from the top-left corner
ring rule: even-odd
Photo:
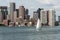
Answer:
[[[48,11],[48,18],[49,18],[49,22],[48,22],[48,25],[49,26],[55,26],[55,21],[56,21],[56,15],[55,15],[55,11],[50,9]]]

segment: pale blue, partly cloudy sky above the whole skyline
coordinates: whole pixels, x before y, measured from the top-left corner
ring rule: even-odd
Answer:
[[[38,8],[44,8],[45,10],[55,9],[56,16],[60,16],[60,0],[0,0],[0,6],[10,6],[11,2],[16,3],[16,8],[23,5],[25,8],[29,9],[29,14],[32,16],[33,11]]]

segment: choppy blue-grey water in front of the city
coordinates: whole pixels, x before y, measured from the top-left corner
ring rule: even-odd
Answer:
[[[0,27],[0,40],[60,40],[60,27]]]

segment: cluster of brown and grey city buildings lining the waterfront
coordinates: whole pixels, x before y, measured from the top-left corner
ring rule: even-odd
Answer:
[[[42,26],[55,26],[56,23],[56,11],[54,9],[38,8],[33,11],[32,18],[30,18],[29,9],[23,5],[16,9],[15,2],[10,3],[10,14],[7,9],[8,6],[0,6],[0,24],[6,26],[33,26],[37,24],[38,19],[40,19]]]

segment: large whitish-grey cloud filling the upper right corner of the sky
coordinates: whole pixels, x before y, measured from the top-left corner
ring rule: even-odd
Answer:
[[[37,2],[55,9],[60,8],[60,0],[37,0]]]

